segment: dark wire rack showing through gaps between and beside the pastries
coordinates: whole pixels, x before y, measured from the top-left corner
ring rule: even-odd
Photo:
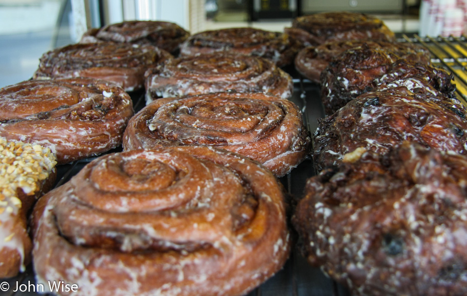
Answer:
[[[467,106],[467,37],[426,37],[417,35],[408,37],[401,35],[398,39],[401,42],[417,43],[426,47],[432,54],[432,63],[437,67],[443,67],[448,72],[453,73],[454,81],[457,85],[457,96],[462,103]],[[292,66],[285,69],[293,77],[292,101],[302,110],[303,120],[312,133],[318,127],[318,119],[324,117],[324,109],[320,100],[319,85],[298,75]],[[133,99],[135,111],[141,110],[145,106],[145,96],[143,92],[130,93]],[[121,148],[110,152],[121,151]],[[108,153],[110,153],[108,152]],[[56,187],[67,182],[72,176],[78,173],[88,162],[95,158],[88,158],[73,163],[59,165]],[[291,173],[282,177],[280,181],[289,192],[291,199],[300,198],[305,187],[306,180],[315,174],[313,160],[305,159]],[[7,282],[10,289],[0,291],[0,296],[33,296],[39,295],[28,289],[27,292],[14,292],[17,285],[35,284],[32,267],[27,267],[26,271],[16,277],[1,279]],[[32,286],[31,286],[32,287]],[[0,284],[1,288],[1,284]],[[49,294],[52,296],[52,294]],[[305,258],[293,249],[289,260],[282,270],[267,280],[263,285],[253,290],[248,296],[349,296],[349,292],[327,277],[319,268],[308,265]]]

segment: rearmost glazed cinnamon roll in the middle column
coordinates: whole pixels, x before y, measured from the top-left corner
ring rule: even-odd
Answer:
[[[281,67],[293,62],[298,49],[298,44],[287,34],[242,27],[192,35],[181,45],[180,54],[186,56],[229,51],[261,56]]]

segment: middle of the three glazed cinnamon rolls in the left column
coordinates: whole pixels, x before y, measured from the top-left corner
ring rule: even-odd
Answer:
[[[144,87],[147,68],[168,58],[172,55],[152,45],[73,44],[43,54],[33,78],[89,77],[134,91]]]

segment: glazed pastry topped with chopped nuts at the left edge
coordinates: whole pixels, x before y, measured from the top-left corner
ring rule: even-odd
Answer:
[[[54,184],[56,164],[48,148],[0,137],[0,278],[25,271],[31,260],[27,214]]]

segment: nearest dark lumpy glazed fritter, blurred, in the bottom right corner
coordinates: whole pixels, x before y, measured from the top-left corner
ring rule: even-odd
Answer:
[[[467,293],[467,158],[405,142],[308,180],[293,224],[355,295]]]

